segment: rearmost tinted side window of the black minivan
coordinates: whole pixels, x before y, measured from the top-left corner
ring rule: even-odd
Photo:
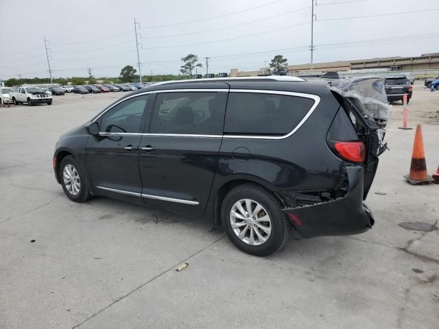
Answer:
[[[285,135],[313,106],[313,99],[261,94],[229,93],[224,132]]]

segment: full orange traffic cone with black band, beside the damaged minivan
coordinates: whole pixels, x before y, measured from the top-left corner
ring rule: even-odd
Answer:
[[[423,132],[420,125],[416,125],[416,134],[414,135],[414,145],[412,154],[412,164],[410,173],[404,178],[410,184],[429,184],[433,179],[427,174],[427,164],[425,164]]]

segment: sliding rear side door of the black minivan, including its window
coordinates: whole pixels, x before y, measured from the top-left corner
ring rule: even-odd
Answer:
[[[146,204],[204,213],[222,143],[227,91],[158,92],[139,148]]]

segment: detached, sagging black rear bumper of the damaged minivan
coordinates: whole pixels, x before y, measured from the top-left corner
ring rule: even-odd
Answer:
[[[375,220],[363,203],[364,169],[346,167],[349,181],[348,193],[329,202],[300,208],[284,208],[302,238],[313,236],[351,235],[366,232]]]

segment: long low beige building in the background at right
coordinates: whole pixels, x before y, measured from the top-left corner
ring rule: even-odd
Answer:
[[[311,71],[311,64],[298,64],[287,66],[288,75],[301,75]],[[370,58],[367,60],[346,60],[337,62],[314,63],[314,72],[351,71],[361,69],[377,69],[386,71],[415,71],[439,69],[439,53],[429,53],[419,57],[385,57]],[[265,75],[265,68],[259,71],[239,71],[230,69],[230,77],[256,77]]]

